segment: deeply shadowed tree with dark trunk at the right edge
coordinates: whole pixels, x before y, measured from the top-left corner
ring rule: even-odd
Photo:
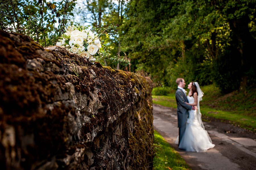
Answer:
[[[236,51],[235,53],[239,55],[238,60],[241,61],[240,90],[245,90],[249,76],[254,77],[256,72],[254,64],[256,60],[254,56],[251,56],[254,53],[256,40],[249,27],[249,23],[256,16],[256,1],[216,1],[214,5],[218,5],[218,10],[226,16],[232,30],[231,45],[236,47],[232,48],[232,51]]]

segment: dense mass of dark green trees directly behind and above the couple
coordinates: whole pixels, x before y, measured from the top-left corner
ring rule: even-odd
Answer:
[[[158,84],[174,88],[176,78],[184,77],[214,82],[228,93],[239,88],[242,77],[255,82],[255,6],[253,0],[132,0],[122,50]]]

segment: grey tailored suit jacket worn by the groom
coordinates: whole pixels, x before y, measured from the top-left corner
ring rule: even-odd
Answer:
[[[192,106],[186,104],[188,102],[187,96],[181,89],[177,89],[175,93],[177,102],[177,114],[178,114],[178,127],[182,127],[186,124],[188,111],[192,109]]]

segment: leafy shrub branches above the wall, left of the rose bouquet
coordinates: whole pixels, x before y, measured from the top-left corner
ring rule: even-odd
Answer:
[[[69,15],[73,16],[75,1],[3,0],[0,29],[28,35],[44,47],[55,45]]]

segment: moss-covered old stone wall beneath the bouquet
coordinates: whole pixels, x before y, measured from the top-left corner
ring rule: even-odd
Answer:
[[[152,169],[140,75],[0,30],[1,169]]]

